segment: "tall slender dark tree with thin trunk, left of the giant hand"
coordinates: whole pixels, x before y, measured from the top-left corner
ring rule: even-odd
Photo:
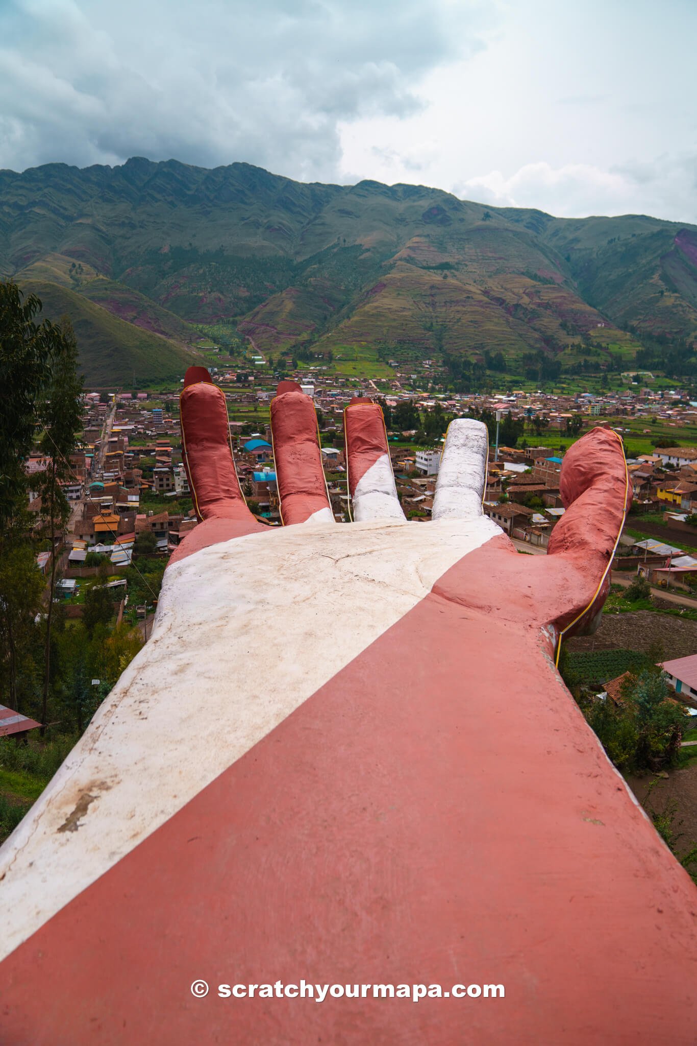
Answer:
[[[67,317],[53,327],[50,378],[40,407],[39,417],[44,427],[41,450],[48,464],[39,474],[41,515],[44,532],[50,542],[51,573],[48,585],[46,641],[44,646],[44,686],[42,697],[42,734],[46,729],[46,710],[51,674],[51,623],[57,568],[56,539],[63,543],[70,519],[70,503],[63,485],[72,478],[70,455],[77,445],[76,433],[82,424],[83,382],[77,377],[77,342]]]

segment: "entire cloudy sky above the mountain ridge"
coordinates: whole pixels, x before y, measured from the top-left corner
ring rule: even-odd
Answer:
[[[0,167],[246,160],[697,222],[695,0],[0,0]]]

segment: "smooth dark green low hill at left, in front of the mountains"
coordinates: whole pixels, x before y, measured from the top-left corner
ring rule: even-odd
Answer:
[[[25,280],[25,294],[36,294],[43,316],[68,315],[79,348],[79,369],[89,386],[133,386],[182,377],[198,356],[149,331],[126,323],[100,305],[56,283]]]

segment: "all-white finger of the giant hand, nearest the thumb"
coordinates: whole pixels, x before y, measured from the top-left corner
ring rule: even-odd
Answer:
[[[471,417],[450,422],[438,470],[434,520],[473,520],[482,515],[488,451],[486,425]]]

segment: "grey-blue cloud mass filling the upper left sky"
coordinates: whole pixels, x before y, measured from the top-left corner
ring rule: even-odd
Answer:
[[[14,0],[0,7],[0,167],[133,155],[336,177],[340,126],[409,117],[483,47],[448,0]]]

